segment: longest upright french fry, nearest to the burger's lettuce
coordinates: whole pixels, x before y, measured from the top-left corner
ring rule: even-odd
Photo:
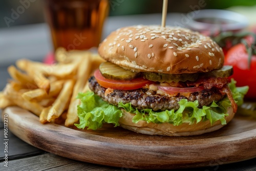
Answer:
[[[76,99],[76,96],[79,92],[82,92],[84,85],[87,82],[87,79],[91,71],[91,54],[83,56],[81,60],[78,71],[77,71],[77,81],[74,86],[73,95],[71,97],[67,119],[65,121],[65,126],[73,126],[74,123],[78,122],[79,118],[77,116],[77,105],[79,104],[79,99]]]

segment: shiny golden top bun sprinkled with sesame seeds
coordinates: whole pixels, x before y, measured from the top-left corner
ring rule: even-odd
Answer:
[[[168,26],[120,28],[101,42],[98,53],[126,69],[165,74],[208,72],[224,62],[222,49],[210,37]]]

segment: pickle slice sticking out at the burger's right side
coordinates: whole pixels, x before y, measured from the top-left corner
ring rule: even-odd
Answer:
[[[232,66],[223,66],[219,70],[214,70],[211,72],[204,73],[206,76],[209,77],[229,77],[233,74],[233,67]]]

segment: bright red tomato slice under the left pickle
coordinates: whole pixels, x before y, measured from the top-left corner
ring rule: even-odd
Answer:
[[[135,90],[142,88],[146,84],[151,84],[153,81],[144,78],[135,78],[132,80],[114,80],[108,79],[101,75],[99,70],[94,72],[94,77],[100,86],[104,88],[111,88],[115,90]]]

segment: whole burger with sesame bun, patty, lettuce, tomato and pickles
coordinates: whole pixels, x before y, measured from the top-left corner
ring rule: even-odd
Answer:
[[[98,48],[106,62],[79,93],[79,129],[113,123],[148,135],[190,136],[226,125],[248,89],[229,81],[222,48],[179,27],[131,26]]]

